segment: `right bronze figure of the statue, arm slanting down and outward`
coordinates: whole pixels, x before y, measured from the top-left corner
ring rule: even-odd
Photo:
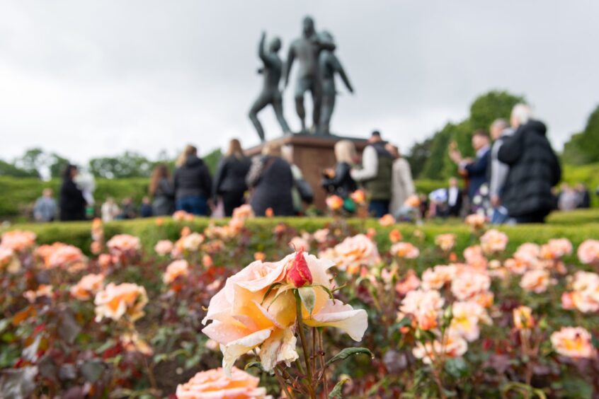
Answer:
[[[330,134],[331,116],[333,115],[335,98],[337,95],[335,88],[335,74],[341,76],[341,80],[343,80],[343,83],[345,83],[350,93],[353,93],[353,87],[346,75],[346,71],[344,71],[343,66],[341,66],[341,62],[339,62],[339,59],[333,53],[335,51],[333,35],[324,31],[320,33],[320,40],[321,43],[325,45],[325,48],[321,50],[318,58],[322,96],[318,133]]]

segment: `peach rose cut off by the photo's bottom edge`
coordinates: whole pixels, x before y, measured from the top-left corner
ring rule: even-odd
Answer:
[[[266,399],[266,388],[258,388],[260,378],[241,371],[236,367],[231,375],[223,369],[200,371],[186,383],[177,386],[178,399],[224,399],[256,398]]]

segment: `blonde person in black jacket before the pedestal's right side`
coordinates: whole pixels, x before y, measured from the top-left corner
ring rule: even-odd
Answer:
[[[321,185],[327,192],[346,199],[352,192],[358,190],[358,185],[355,184],[350,174],[351,166],[357,158],[353,141],[337,141],[335,144],[335,158],[337,161],[335,170],[324,170]],[[351,211],[351,209],[346,210]]]

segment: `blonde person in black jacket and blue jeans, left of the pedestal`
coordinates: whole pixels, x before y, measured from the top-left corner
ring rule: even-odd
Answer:
[[[177,210],[207,216],[212,177],[204,161],[198,158],[198,149],[186,146],[177,160],[177,166],[174,178]]]

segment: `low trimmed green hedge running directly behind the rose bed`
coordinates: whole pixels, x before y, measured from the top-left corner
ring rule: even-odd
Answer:
[[[591,223],[581,224],[583,220],[593,220]],[[106,238],[115,234],[128,233],[141,238],[147,250],[154,247],[160,239],[176,240],[183,226],[190,226],[193,231],[203,231],[210,223],[224,224],[226,219],[195,218],[191,222],[178,222],[171,218],[164,218],[163,223],[158,226],[156,219],[135,219],[130,221],[113,221],[104,225]],[[346,219],[347,223],[356,231],[365,232],[368,228],[377,230],[376,241],[382,248],[389,245],[388,233],[394,228],[399,229],[406,241],[420,243],[421,245],[434,245],[435,236],[440,233],[455,233],[457,236],[456,250],[461,252],[468,245],[472,245],[476,238],[472,236],[468,226],[457,220],[448,223],[433,221],[423,226],[413,224],[396,224],[392,227],[382,227],[376,219]],[[268,250],[265,245],[273,244],[271,239],[273,229],[277,224],[284,222],[290,227],[310,233],[322,229],[333,222],[331,218],[256,218],[249,219],[246,226],[252,232],[255,250]],[[90,222],[70,222],[52,224],[17,224],[8,229],[31,230],[38,234],[38,243],[53,243],[62,241],[76,245],[83,250],[89,250],[91,244]],[[6,231],[8,229],[1,229]],[[545,243],[549,238],[569,238],[578,245],[587,238],[599,238],[599,210],[573,211],[567,213],[556,213],[549,219],[546,225],[520,225],[501,226],[499,228],[508,234],[510,242],[508,250],[513,251],[521,243],[528,241]],[[418,233],[416,233],[418,231]],[[422,234],[421,234],[422,233]],[[263,238],[263,239],[262,239]],[[270,239],[269,239],[270,238]]]

